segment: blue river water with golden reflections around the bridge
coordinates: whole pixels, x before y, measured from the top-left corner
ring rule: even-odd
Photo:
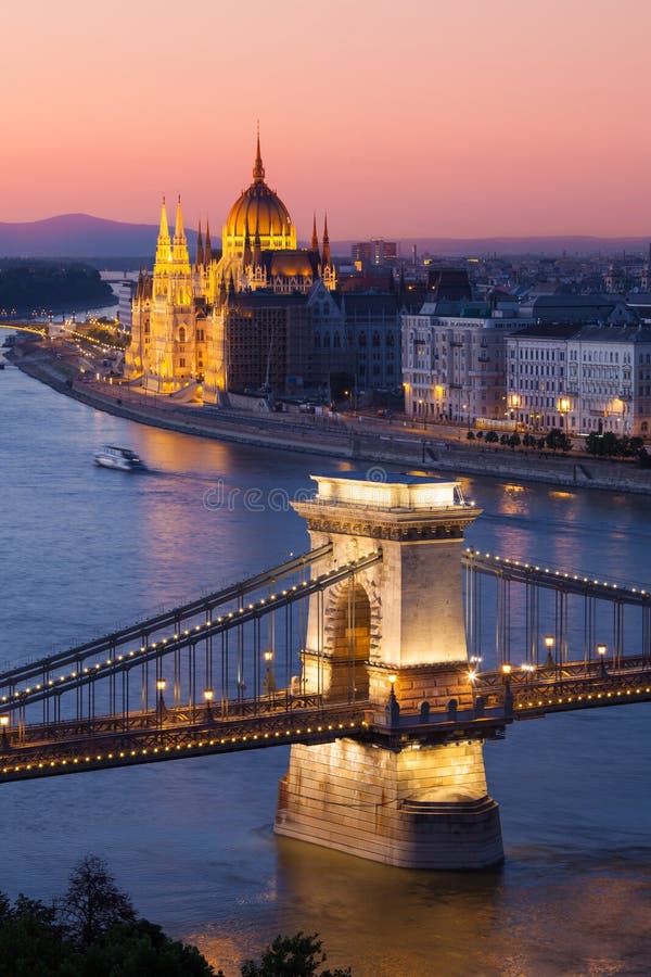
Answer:
[[[346,468],[141,427],[9,366],[0,417],[0,667],[307,548],[302,520],[264,502]],[[151,471],[94,468],[103,442],[137,449]],[[471,544],[649,585],[648,499],[462,481],[485,510]],[[230,505],[206,506],[219,484]],[[246,488],[259,490],[254,511]],[[499,871],[405,872],[277,839],[278,748],[0,787],[0,890],[48,899],[97,853],[139,912],[228,977],[299,929],[355,977],[648,974],[651,706],[522,723],[485,756]]]

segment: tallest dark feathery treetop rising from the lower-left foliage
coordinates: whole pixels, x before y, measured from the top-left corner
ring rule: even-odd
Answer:
[[[69,938],[88,947],[116,923],[135,923],[129,897],[115,885],[106,863],[86,855],[75,866],[59,905]]]

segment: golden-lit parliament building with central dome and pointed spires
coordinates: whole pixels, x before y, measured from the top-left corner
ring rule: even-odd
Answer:
[[[341,321],[328,223],[321,246],[316,218],[311,243],[299,249],[296,228],[265,182],[259,137],[253,182],[238,198],[213,253],[201,226],[190,259],[180,199],[174,234],[163,201],[153,274],[141,274],[132,303],[126,378],[174,393],[200,385],[205,403],[227,392],[288,393],[327,386],[350,369],[343,323],[326,356],[315,323]]]

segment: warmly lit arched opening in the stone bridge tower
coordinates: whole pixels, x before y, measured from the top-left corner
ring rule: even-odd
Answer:
[[[346,581],[332,595],[326,617],[326,651],[331,665],[327,698],[333,702],[367,699],[371,604],[356,581]]]

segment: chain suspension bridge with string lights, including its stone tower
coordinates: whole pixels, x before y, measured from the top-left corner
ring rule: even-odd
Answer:
[[[457,482],[316,481],[307,553],[0,674],[0,784],[291,744],[278,833],[499,861],[483,741],[651,700],[651,594],[463,550]]]

